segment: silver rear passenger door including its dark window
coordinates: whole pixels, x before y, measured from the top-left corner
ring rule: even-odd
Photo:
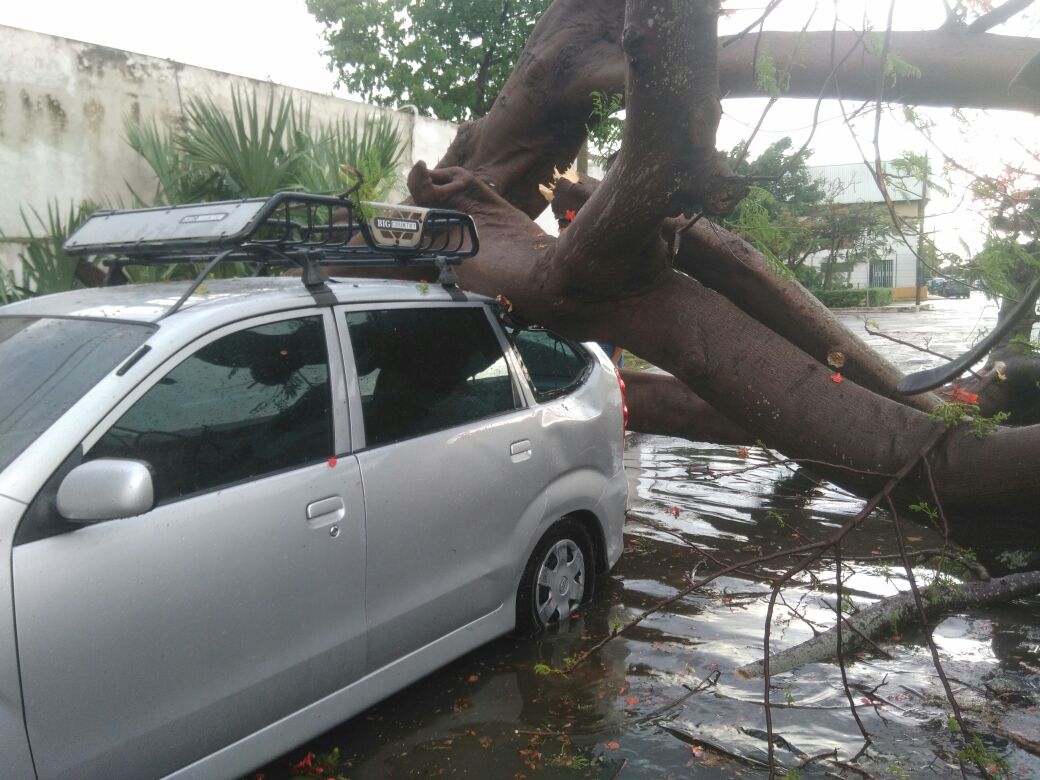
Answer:
[[[341,316],[361,412],[352,421],[364,422],[375,669],[505,601],[512,609],[550,459],[485,307],[352,307]]]

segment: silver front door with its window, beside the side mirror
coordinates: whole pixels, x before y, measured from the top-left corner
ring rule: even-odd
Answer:
[[[185,347],[83,442],[154,474],[138,517],[23,520],[14,592],[41,778],[156,777],[356,680],[365,525],[330,310]],[[34,518],[40,522],[32,527]]]

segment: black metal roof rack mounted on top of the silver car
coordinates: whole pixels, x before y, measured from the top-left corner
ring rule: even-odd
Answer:
[[[246,261],[302,267],[306,284],[329,266],[436,263],[443,270],[478,249],[476,226],[461,211],[309,192],[97,211],[64,243],[70,255],[111,256],[112,268]]]

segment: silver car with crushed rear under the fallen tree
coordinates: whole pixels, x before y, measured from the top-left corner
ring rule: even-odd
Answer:
[[[595,346],[440,285],[184,287],[0,308],[4,778],[242,774],[621,553]]]

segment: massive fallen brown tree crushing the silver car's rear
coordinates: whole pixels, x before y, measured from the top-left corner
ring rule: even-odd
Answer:
[[[701,211],[724,213],[743,193],[716,152],[714,133],[719,75],[728,94],[748,92],[740,73],[752,69],[752,50],[746,38],[723,48],[720,60],[718,10],[714,0],[556,0],[492,110],[460,129],[438,168],[416,165],[409,188],[421,205],[476,219],[482,250],[460,271],[463,286],[505,295],[523,319],[623,344],[675,378],[632,382],[638,425],[727,441],[746,433],[791,458],[834,464],[829,477],[873,492],[940,424],[919,408],[931,400],[894,396],[898,372],[797,285],[774,279],[737,237],[703,219],[692,224]],[[781,40],[771,36],[777,60]],[[1040,51],[1034,41],[950,31],[892,41],[895,51],[912,43],[918,56],[903,58],[922,73],[888,97],[1040,108],[1038,95],[1008,88]],[[955,43],[985,56],[960,58]],[[853,46],[862,40],[807,35],[799,50],[805,67],[796,69],[806,85],[792,89],[873,96],[877,57],[865,50],[846,57],[841,47]],[[830,63],[839,61],[835,71]],[[538,185],[573,160],[590,95],[623,85],[627,121],[617,161],[598,187],[571,193],[583,206],[558,240],[545,235],[531,222],[545,207]],[[827,363],[834,350],[844,359],[840,383]],[[671,424],[665,409],[674,410]],[[1040,427],[982,440],[964,425],[946,434],[930,461],[964,543],[982,538],[973,518],[985,506],[1005,518],[1008,541],[1021,545],[1019,523],[1032,522],[1040,498],[1038,453]],[[920,473],[904,492],[915,500],[931,495]],[[996,530],[988,524],[986,541]]]

